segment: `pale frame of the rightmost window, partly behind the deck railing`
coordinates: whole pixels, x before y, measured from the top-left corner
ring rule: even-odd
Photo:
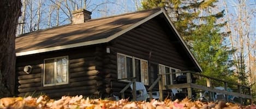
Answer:
[[[160,66],[163,66],[164,67],[164,73],[163,74],[165,74],[165,67],[168,67],[169,68],[169,73],[171,73],[170,74],[170,85],[172,85],[173,84],[173,80],[172,80],[172,72],[171,72],[171,69],[175,69],[176,70],[176,72],[178,71],[178,72],[180,72],[181,70],[180,69],[177,69],[177,68],[173,68],[173,67],[169,67],[169,66],[165,66],[165,65],[162,65],[162,64],[158,64],[158,72],[159,72],[159,74],[162,74],[161,72],[160,72]],[[181,75],[181,74],[176,74],[176,76],[177,75]],[[166,75],[162,75],[162,82],[163,82],[163,84],[164,85],[167,85],[167,82],[166,82],[166,77],[165,77]]]

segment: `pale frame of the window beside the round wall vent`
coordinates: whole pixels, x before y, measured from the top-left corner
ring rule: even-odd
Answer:
[[[67,58],[67,81],[66,82],[61,82],[61,83],[56,83],[56,79],[57,79],[57,59],[62,59],[62,58]],[[53,84],[45,84],[45,60],[51,60],[54,59],[54,83]],[[48,58],[48,59],[44,59],[44,74],[43,74],[43,86],[56,86],[56,85],[64,85],[64,84],[68,84],[69,83],[69,58],[68,56],[59,56],[59,57],[52,57],[52,58]]]

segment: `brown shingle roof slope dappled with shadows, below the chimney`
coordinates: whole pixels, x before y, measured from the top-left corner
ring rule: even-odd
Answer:
[[[69,24],[25,34],[16,37],[16,53],[105,39],[155,14],[159,10],[153,9],[99,18],[81,24]]]

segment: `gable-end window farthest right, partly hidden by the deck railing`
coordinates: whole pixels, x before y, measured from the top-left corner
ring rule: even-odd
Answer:
[[[173,84],[173,81],[176,78],[176,76],[180,75],[180,74],[169,74],[174,72],[180,72],[180,70],[159,64],[159,74],[166,74],[166,75],[162,75],[163,85]]]

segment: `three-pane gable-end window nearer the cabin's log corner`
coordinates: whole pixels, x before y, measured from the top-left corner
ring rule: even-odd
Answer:
[[[117,54],[117,78],[129,79],[136,77],[136,81],[148,85],[148,63],[136,57]]]

